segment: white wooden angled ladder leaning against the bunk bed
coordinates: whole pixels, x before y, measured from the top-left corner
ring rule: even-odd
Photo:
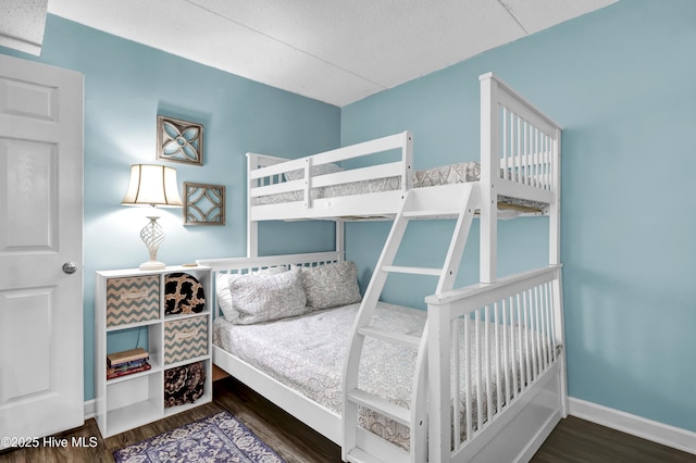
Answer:
[[[353,463],[425,462],[427,460],[427,339],[370,326],[377,301],[390,273],[437,276],[435,292],[452,289],[457,270],[467,243],[469,229],[478,201],[477,184],[461,184],[448,195],[449,205],[443,207],[443,193],[433,189],[409,190],[403,199],[384,249],[368,285],[353,324],[350,347],[344,371],[343,459]],[[439,196],[438,196],[439,195]],[[444,209],[443,209],[444,208]],[[440,220],[456,217],[457,222],[442,268],[394,265],[407,226],[413,220]],[[418,351],[410,408],[397,405],[358,388],[360,358],[365,338],[376,338],[406,346]],[[359,408],[366,408],[396,421],[410,429],[410,448],[400,447],[362,429],[358,424]]]

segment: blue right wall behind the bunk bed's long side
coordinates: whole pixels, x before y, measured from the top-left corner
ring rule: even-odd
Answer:
[[[623,0],[341,111],[343,143],[413,130],[419,168],[477,159],[477,76],[488,71],[561,124],[570,396],[692,431],[695,24],[691,0]],[[546,226],[506,222],[501,245],[519,236],[536,249]],[[373,223],[347,228],[361,276],[387,232]],[[421,234],[437,242],[444,230]],[[427,254],[423,248],[412,253]],[[470,248],[464,281],[477,276]],[[502,252],[501,273],[527,265],[522,249]],[[419,305],[422,292],[400,284],[386,297]]]

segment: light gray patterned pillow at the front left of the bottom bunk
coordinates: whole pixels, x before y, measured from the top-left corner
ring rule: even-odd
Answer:
[[[299,268],[278,274],[232,275],[229,293],[238,313],[233,323],[238,325],[285,318],[309,311]]]

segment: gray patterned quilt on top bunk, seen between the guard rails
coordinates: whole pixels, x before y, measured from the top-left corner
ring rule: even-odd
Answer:
[[[332,164],[333,165],[333,164]],[[339,172],[340,167],[318,172],[314,175]],[[293,177],[290,179],[302,178]],[[457,164],[442,165],[437,167],[424,168],[413,172],[412,187],[435,187],[440,185],[463,184],[481,180],[481,164],[475,161],[460,162]],[[393,191],[401,187],[401,177],[383,177],[370,180],[351,182],[348,184],[330,185],[325,187],[312,188],[312,199],[337,198],[352,195],[368,195],[383,191]],[[293,201],[302,201],[303,191],[288,191],[278,195],[268,195],[254,199],[254,205],[279,204]],[[522,209],[542,210],[546,204],[536,201],[526,201],[518,198],[498,197],[498,202]]]

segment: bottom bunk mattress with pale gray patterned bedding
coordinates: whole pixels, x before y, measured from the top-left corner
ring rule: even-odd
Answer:
[[[219,316],[214,323],[213,342],[286,386],[340,414],[343,408],[341,375],[345,354],[359,306],[360,304],[356,303],[254,325],[235,325]],[[425,311],[380,302],[372,325],[383,329],[420,336],[423,331],[425,320]],[[463,385],[467,383],[463,376],[468,375],[472,378],[473,386],[470,388],[470,395],[473,398],[476,396],[475,385],[483,385],[481,378],[485,378],[485,372],[488,372],[488,386],[482,386],[481,389],[482,393],[485,395],[487,392],[492,396],[492,402],[489,402],[493,403],[492,410],[497,410],[497,398],[501,398],[500,402],[502,404],[505,397],[510,397],[509,389],[507,395],[504,393],[506,390],[506,377],[514,378],[509,381],[515,385],[515,390],[520,390],[524,373],[520,372],[519,362],[507,362],[508,374],[500,374],[498,378],[495,372],[505,371],[505,367],[500,366],[504,364],[504,351],[507,350],[509,353],[505,355],[505,359],[519,359],[519,354],[514,354],[517,349],[511,350],[510,345],[512,342],[510,341],[512,340],[517,346],[522,338],[519,337],[514,340],[514,335],[504,337],[501,334],[496,337],[492,334],[492,325],[495,325],[492,323],[485,324],[489,327],[488,333],[490,333],[490,336],[484,337],[485,327],[483,329],[481,329],[481,326],[476,328],[477,324],[484,325],[484,322],[467,324],[467,330],[470,331],[467,336],[469,355],[464,353],[459,355],[462,402],[465,397]],[[514,330],[517,331],[517,329]],[[475,331],[478,334],[477,337]],[[530,335],[530,339],[532,335]],[[464,359],[475,359],[477,345],[483,349],[483,339],[486,338],[489,343],[488,361],[493,366],[485,367],[482,365],[478,368],[482,373],[477,375],[476,367],[478,362],[472,361],[468,370],[464,365]],[[462,340],[463,350],[463,328],[460,333],[460,339]],[[507,342],[508,346],[504,347],[504,342]],[[496,349],[496,343],[498,349]],[[530,350],[526,349],[526,351]],[[499,352],[499,354],[496,354],[496,352]],[[498,367],[495,366],[496,362],[498,362]],[[363,348],[358,386],[360,389],[377,397],[409,408],[414,365],[415,351],[413,349],[369,338]],[[498,388],[500,388],[500,395],[497,393]],[[513,392],[513,395],[517,396],[517,392]],[[487,400],[484,399],[478,402],[483,404],[482,413],[477,412],[475,401],[470,403],[471,423],[475,429],[478,421],[477,416],[486,416]],[[464,409],[465,404],[462,403],[462,415],[465,413]],[[460,437],[463,440],[467,430],[464,416],[461,416],[460,424]],[[360,425],[393,443],[407,450],[409,448],[409,429],[401,424],[385,418],[373,411],[361,409]]]

